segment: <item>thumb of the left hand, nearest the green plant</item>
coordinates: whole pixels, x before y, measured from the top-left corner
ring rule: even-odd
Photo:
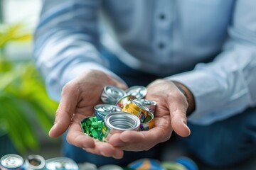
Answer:
[[[73,113],[78,103],[79,91],[73,82],[66,84],[62,91],[60,104],[55,114],[53,128],[50,129],[50,137],[58,137],[68,129]]]

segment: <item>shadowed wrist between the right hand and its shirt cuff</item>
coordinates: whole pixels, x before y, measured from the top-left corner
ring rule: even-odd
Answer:
[[[187,116],[191,115],[193,111],[195,111],[196,103],[195,98],[192,94],[192,92],[186,87],[185,85],[181,84],[178,81],[173,81],[175,86],[181,91],[181,93],[186,97],[186,100],[188,101],[188,109],[187,109]]]

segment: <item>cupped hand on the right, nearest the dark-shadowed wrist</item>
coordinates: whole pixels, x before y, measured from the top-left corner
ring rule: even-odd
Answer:
[[[190,130],[186,125],[188,102],[176,85],[169,80],[158,79],[147,86],[146,99],[157,102],[155,124],[149,131],[125,131],[110,137],[109,143],[129,151],[142,151],[165,142],[174,130],[178,135],[186,137]]]

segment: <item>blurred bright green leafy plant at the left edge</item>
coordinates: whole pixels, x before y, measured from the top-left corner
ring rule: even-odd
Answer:
[[[38,128],[48,133],[58,103],[52,101],[33,61],[9,60],[4,47],[12,41],[29,41],[22,24],[0,25],[0,129],[19,153],[39,148]]]

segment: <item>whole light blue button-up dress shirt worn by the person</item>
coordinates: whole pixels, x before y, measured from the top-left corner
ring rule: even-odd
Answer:
[[[107,69],[104,45],[129,67],[180,81],[207,125],[256,105],[255,0],[44,0],[36,64],[51,97],[86,69]]]

